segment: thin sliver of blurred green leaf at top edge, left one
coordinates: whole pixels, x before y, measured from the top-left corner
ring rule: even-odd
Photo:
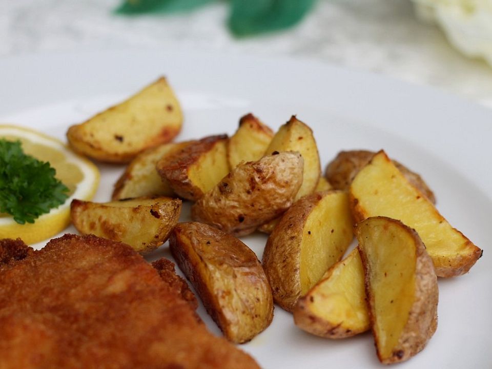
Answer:
[[[116,9],[116,13],[172,13],[192,10],[214,1],[216,0],[125,0]]]

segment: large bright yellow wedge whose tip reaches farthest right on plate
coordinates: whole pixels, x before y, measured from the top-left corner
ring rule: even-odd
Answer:
[[[384,151],[378,152],[355,176],[350,197],[356,221],[381,215],[399,219],[414,228],[439,277],[468,272],[482,255],[482,250],[450,226]]]

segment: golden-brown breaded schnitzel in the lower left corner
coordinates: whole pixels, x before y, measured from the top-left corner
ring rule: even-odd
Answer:
[[[91,235],[2,249],[0,369],[259,367],[207,331],[170,261]]]

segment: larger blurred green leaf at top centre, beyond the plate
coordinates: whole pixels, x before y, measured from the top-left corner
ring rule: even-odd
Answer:
[[[232,0],[229,28],[236,36],[277,31],[297,24],[316,0]]]

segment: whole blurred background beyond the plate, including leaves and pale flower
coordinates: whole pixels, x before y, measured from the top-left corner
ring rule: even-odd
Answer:
[[[312,58],[492,108],[492,0],[0,0],[0,57],[136,48]]]

